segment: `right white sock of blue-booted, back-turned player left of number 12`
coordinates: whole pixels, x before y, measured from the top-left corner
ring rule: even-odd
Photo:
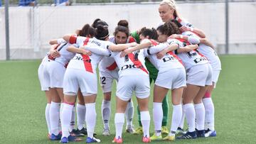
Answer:
[[[86,107],[86,115],[85,115],[85,121],[87,124],[87,134],[88,137],[93,138],[93,133],[95,130],[95,124],[96,124],[96,110],[95,110],[95,103],[85,104]]]

